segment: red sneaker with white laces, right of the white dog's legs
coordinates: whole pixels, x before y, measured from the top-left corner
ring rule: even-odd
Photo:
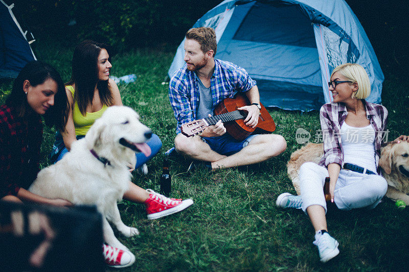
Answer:
[[[161,218],[175,212],[180,212],[193,204],[193,200],[169,199],[160,193],[147,189],[149,199],[145,201],[148,219]]]

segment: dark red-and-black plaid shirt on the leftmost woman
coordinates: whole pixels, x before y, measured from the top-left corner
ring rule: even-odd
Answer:
[[[0,198],[28,188],[39,171],[41,117],[18,117],[16,110],[0,106]]]

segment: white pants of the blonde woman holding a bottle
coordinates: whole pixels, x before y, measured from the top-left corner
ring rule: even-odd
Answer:
[[[320,205],[327,212],[324,197],[325,178],[328,169],[313,162],[306,162],[300,168],[300,187],[302,209],[305,212],[311,205]],[[338,209],[351,210],[378,205],[388,189],[387,181],[378,175],[359,174],[341,169],[335,184],[334,202]]]

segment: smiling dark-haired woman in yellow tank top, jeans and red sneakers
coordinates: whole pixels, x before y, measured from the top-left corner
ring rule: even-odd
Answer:
[[[65,131],[61,132],[64,148],[63,153],[70,150],[71,144],[83,137],[94,121],[99,118],[109,106],[122,106],[121,95],[117,84],[109,79],[112,67],[106,45],[94,41],[83,41],[74,50],[71,80],[66,84],[65,91],[70,103],[70,113]],[[161,140],[153,134],[147,142],[154,156],[162,147]],[[57,142],[54,144],[57,153],[61,150]],[[146,162],[143,153],[137,155],[137,166],[141,160]],[[142,158],[143,157],[143,158]],[[142,162],[144,163],[144,162]],[[130,170],[135,166],[129,165]],[[167,197],[145,190],[130,182],[129,190],[125,192],[124,199],[144,203],[149,219],[159,218],[179,212],[188,206],[181,200],[172,201]],[[167,212],[164,213],[163,211]],[[162,212],[161,212],[162,211]]]

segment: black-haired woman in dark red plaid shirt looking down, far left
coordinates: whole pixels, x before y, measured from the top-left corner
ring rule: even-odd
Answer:
[[[39,171],[41,116],[49,127],[64,129],[68,103],[64,83],[49,64],[32,61],[14,81],[0,106],[0,199],[71,206],[69,201],[46,199],[27,189]]]

